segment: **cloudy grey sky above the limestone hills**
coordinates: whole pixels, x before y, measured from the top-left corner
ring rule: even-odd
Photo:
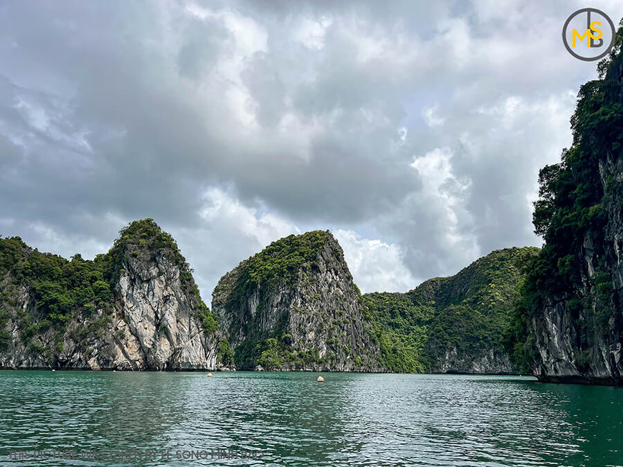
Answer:
[[[153,217],[210,300],[271,241],[330,229],[363,291],[540,245],[539,167],[620,1],[0,3],[0,234],[92,258]]]

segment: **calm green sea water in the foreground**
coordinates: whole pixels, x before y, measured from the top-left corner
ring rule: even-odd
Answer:
[[[623,388],[317,376],[3,371],[0,464],[623,464]]]

